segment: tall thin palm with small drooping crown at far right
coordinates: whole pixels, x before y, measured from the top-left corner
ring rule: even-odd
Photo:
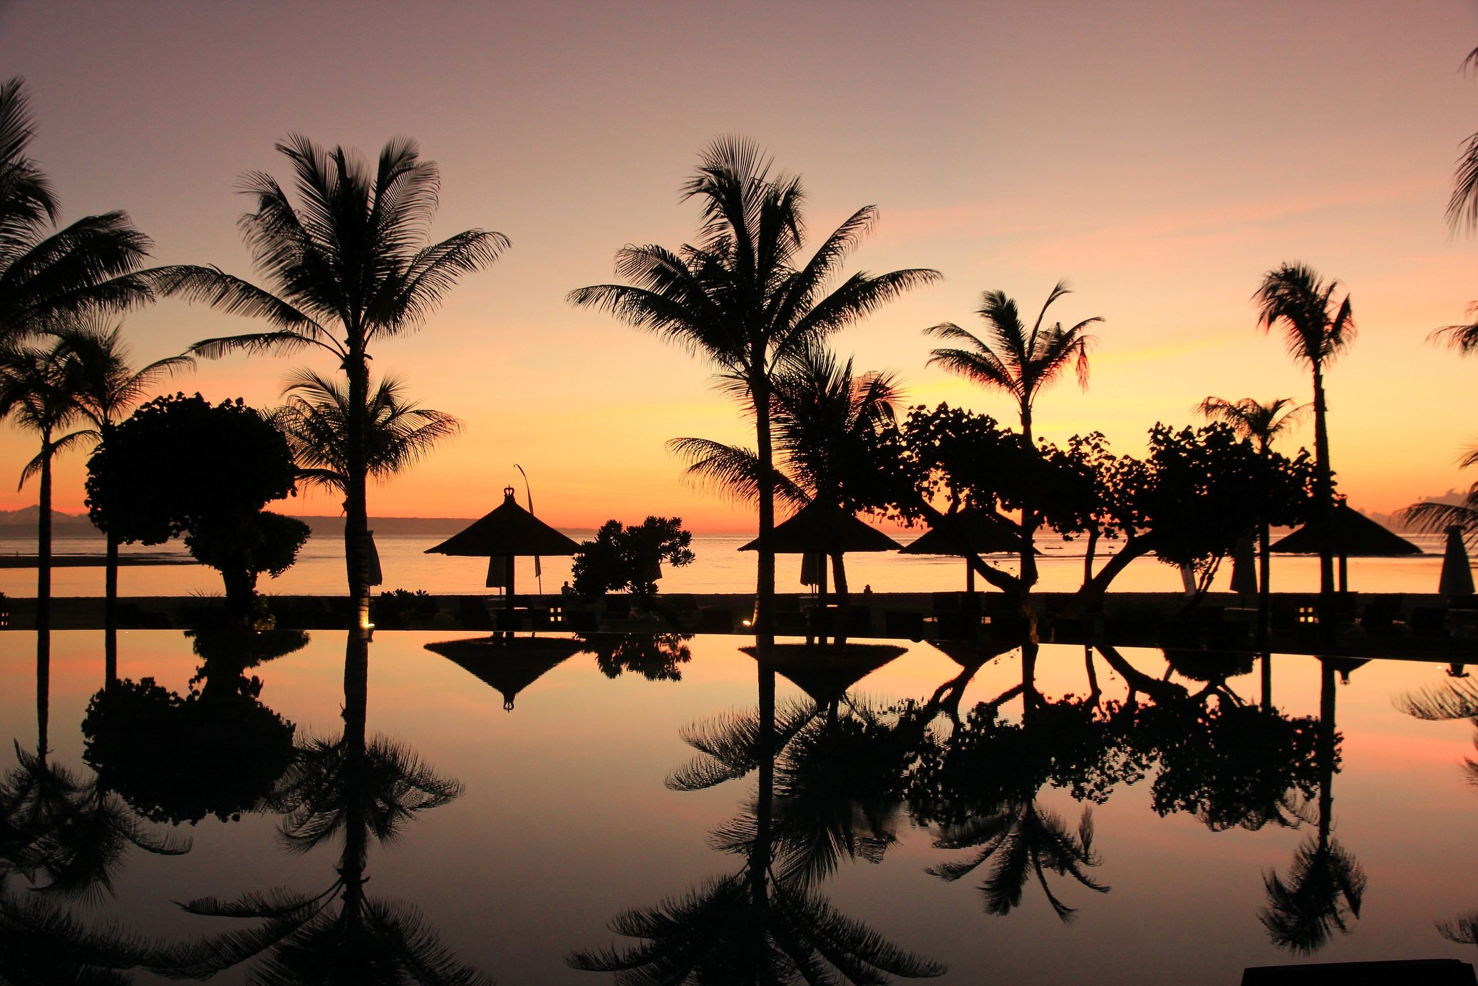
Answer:
[[[1335,473],[1329,464],[1329,405],[1324,399],[1324,367],[1355,339],[1355,318],[1346,294],[1339,302],[1339,281],[1324,282],[1302,263],[1284,263],[1268,271],[1252,299],[1258,303],[1258,328],[1283,328],[1283,340],[1295,362],[1314,371],[1314,511],[1324,529],[1318,551],[1318,591],[1324,611],[1324,633],[1333,633],[1335,554],[1329,543],[1329,520],[1335,509]]]

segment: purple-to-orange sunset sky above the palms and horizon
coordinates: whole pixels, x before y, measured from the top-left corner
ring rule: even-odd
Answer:
[[[372,350],[461,435],[370,492],[371,516],[474,517],[529,476],[560,526],[681,516],[752,531],[692,486],[678,436],[752,443],[711,367],[565,299],[615,279],[628,242],[696,235],[678,189],[702,148],[751,137],[807,189],[808,241],[876,205],[847,271],[933,268],[832,339],[899,374],[907,404],[1012,421],[1014,405],[928,367],[928,325],[983,327],[980,293],[1064,322],[1101,316],[1086,392],[1045,392],[1035,430],[1103,432],[1144,454],[1206,396],[1311,401],[1308,370],[1256,328],[1284,262],[1348,291],[1358,337],[1327,371],[1332,463],[1388,513],[1471,475],[1478,358],[1429,341],[1478,299],[1478,239],[1444,220],[1478,130],[1478,3],[250,3],[0,0],[0,77],[24,77],[33,157],[72,220],[126,210],[158,263],[257,279],[236,231],[244,171],[288,177],[290,133],[372,157],[412,137],[440,167],[432,235],[511,248],[415,334]],[[260,282],[260,281],[259,281]],[[137,362],[248,319],[166,300],[121,318]],[[281,401],[312,358],[202,362],[168,390]],[[1284,439],[1312,445],[1312,426]],[[0,427],[0,509],[35,438]],[[86,457],[55,506],[83,510]],[[337,500],[287,510],[334,514]]]

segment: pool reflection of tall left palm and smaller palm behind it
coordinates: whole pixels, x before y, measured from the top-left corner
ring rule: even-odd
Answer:
[[[253,982],[273,985],[491,983],[446,951],[414,905],[365,894],[371,837],[390,841],[417,813],[461,794],[458,782],[437,776],[408,748],[367,735],[368,683],[368,633],[350,631],[343,736],[300,744],[272,800],[284,812],[290,849],[343,840],[336,880],[316,894],[279,888],[182,905],[197,915],[260,921],[198,942],[189,974],[211,976],[256,958]]]

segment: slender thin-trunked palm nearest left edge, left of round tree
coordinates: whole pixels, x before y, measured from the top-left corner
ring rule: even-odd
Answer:
[[[69,432],[81,415],[71,389],[68,347],[62,340],[47,347],[10,344],[0,349],[0,417],[9,417],[41,436],[41,451],[21,470],[21,488],[40,476],[40,517],[35,538],[35,625],[50,627],[52,600],[52,458],[93,436]]]

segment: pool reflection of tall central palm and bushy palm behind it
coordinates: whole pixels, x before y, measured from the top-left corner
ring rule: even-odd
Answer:
[[[848,653],[862,658],[856,645],[844,647],[811,653],[838,667]],[[742,866],[655,908],[622,912],[610,930],[644,942],[573,952],[572,967],[618,973],[622,983],[881,983],[944,971],[840,914],[817,891],[842,854],[876,860],[893,841],[879,812],[888,798],[879,800],[876,786],[887,772],[847,769],[856,760],[888,761],[893,744],[881,720],[859,705],[848,705],[847,715],[828,714],[826,701],[777,710],[776,661],[769,656],[776,652],[795,656],[782,646],[751,652],[758,713],[684,730],[701,755],[668,779],[675,789],[698,789],[758,773],[752,804],[711,840]],[[897,788],[897,773],[887,782]]]

